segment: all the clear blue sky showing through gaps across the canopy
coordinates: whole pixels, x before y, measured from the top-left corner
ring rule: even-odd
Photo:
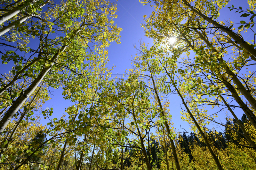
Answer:
[[[107,48],[108,49],[108,59],[110,60],[107,64],[109,68],[112,66],[114,67],[114,70],[112,71],[113,74],[124,74],[126,69],[132,68],[131,65],[131,56],[135,55],[136,49],[133,47],[133,44],[138,45],[138,41],[144,41],[145,43],[149,43],[149,47],[153,45],[153,40],[149,39],[148,37],[145,37],[145,33],[143,32],[144,29],[141,27],[141,23],[144,23],[143,21],[143,15],[150,15],[152,10],[154,10],[153,7],[150,7],[150,5],[142,5],[139,0],[118,0],[117,3],[117,9],[118,11],[116,14],[118,15],[118,18],[114,19],[115,23],[118,27],[121,27],[123,31],[120,33],[121,35],[121,43],[116,44],[115,42],[112,42],[111,45]],[[241,14],[235,13],[235,11],[229,11],[228,6],[234,5],[236,8],[239,6],[242,6],[243,9],[248,8],[247,0],[232,0],[228,3],[226,7],[224,7],[220,11],[220,20],[231,20],[234,23],[239,23],[240,20],[243,20],[242,17],[240,17]],[[235,25],[236,28],[240,24]],[[255,26],[256,28],[256,26]],[[255,29],[254,28],[254,29]],[[252,39],[251,33],[244,33],[244,38],[248,41]],[[0,63],[0,73],[4,73],[8,70],[11,70],[12,65],[11,64],[2,64]],[[47,101],[44,104],[44,108],[46,107],[53,107],[54,117],[60,117],[62,113],[65,113],[65,108],[72,105],[72,103],[68,100],[64,100],[62,96],[62,88],[59,89],[51,89],[52,94],[54,96],[51,96],[51,100]],[[176,129],[180,129],[180,131],[183,131],[184,128],[188,132],[189,130],[189,124],[185,121],[182,121],[180,116],[181,111],[181,100],[178,96],[172,95],[168,98],[170,102],[170,113],[172,115],[172,122],[174,122],[174,127]],[[183,106],[182,106],[183,107]],[[184,108],[184,107],[183,107]],[[66,114],[67,115],[67,114]],[[220,120],[225,122],[226,115],[219,114]],[[242,116],[242,113],[238,115],[240,118]],[[48,120],[41,120],[41,123],[44,125]],[[212,127],[211,125],[210,127]],[[210,128],[209,127],[209,128]]]

